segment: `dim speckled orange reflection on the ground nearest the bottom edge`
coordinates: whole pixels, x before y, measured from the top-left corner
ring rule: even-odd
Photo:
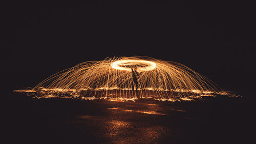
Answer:
[[[106,131],[105,136],[112,143],[156,143],[155,140],[166,137],[170,132],[169,129],[162,126],[134,127],[130,122],[118,120],[106,122],[104,130]]]

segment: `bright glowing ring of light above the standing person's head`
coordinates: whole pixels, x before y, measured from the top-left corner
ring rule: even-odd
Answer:
[[[150,71],[156,68],[156,63],[145,60],[120,60],[112,63],[112,68],[123,71],[131,71],[131,67],[125,67],[127,65],[135,65],[138,72]],[[144,65],[140,67],[139,65]],[[122,66],[122,67],[121,67]]]

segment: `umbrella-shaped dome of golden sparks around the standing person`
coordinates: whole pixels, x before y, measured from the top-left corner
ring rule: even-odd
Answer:
[[[136,77],[132,69],[137,70]],[[182,64],[144,56],[84,62],[52,75],[33,89],[14,92],[27,93],[33,98],[103,98],[112,101],[135,101],[138,98],[190,101],[203,96],[233,95]]]

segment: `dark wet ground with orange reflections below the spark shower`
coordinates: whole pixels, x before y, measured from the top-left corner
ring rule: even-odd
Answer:
[[[9,143],[249,143],[253,106],[244,98],[198,102],[31,99],[2,101]]]

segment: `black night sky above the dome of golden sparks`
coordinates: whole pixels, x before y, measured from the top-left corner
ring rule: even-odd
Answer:
[[[12,3],[1,8],[1,73],[33,87],[86,61],[143,55],[182,63],[253,97],[255,11],[241,3]]]

